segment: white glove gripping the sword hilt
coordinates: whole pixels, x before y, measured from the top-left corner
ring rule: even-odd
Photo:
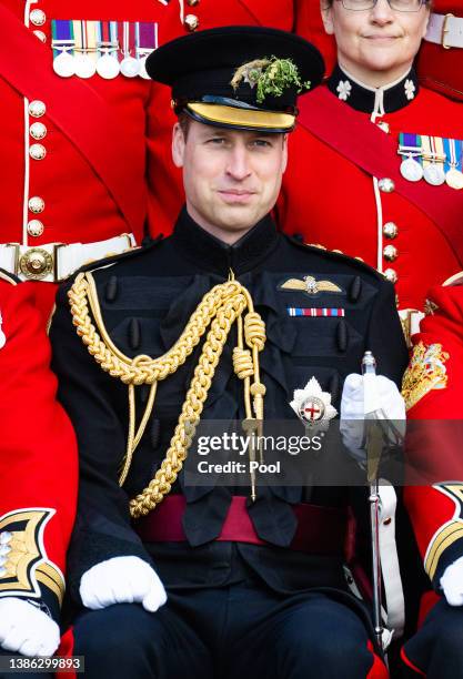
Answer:
[[[394,382],[384,375],[348,375],[342,391],[340,428],[345,447],[359,459],[365,455],[364,427],[355,420],[364,419],[366,414],[376,409],[394,424],[405,420],[405,402]]]

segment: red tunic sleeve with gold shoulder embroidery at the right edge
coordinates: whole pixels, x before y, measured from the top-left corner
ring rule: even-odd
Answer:
[[[434,313],[413,338],[403,394],[407,417],[424,420],[411,429],[407,456],[419,463],[421,483],[433,485],[405,487],[404,497],[426,572],[439,586],[463,556],[463,287],[435,286],[430,305]]]

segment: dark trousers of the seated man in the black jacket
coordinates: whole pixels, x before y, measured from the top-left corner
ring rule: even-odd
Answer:
[[[73,636],[85,679],[362,679],[374,660],[362,617],[334,592],[284,596],[254,578],[170,591],[154,614],[87,610]]]

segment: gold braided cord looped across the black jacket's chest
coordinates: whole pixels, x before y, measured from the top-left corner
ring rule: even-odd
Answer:
[[[263,419],[265,386],[260,381],[259,352],[265,344],[265,324],[260,314],[254,311],[248,290],[231,274],[227,283],[215,285],[203,296],[182,334],[163,356],[151,358],[140,354],[132,359],[118,349],[104,327],[97,286],[90,272],[80,273],[77,276],[68,295],[72,322],[90,354],[103,371],[129,387],[129,434],[123,468],[119,478],[121,486],[127,479],[133,453],[152,413],[158,382],[172,375],[187,361],[210,326],[165,458],[147,488],[130,500],[130,514],[133,518],[138,518],[147,515],[162,501],[183,466],[223,346],[236,320],[238,346],[233,349],[233,368],[238,377],[243,379],[246,426],[253,429],[255,425],[253,426],[252,423],[255,423],[255,419]],[[90,317],[89,305],[97,327]],[[242,314],[246,308],[243,324]],[[244,341],[249,348],[244,348],[243,325]],[[253,378],[252,384],[251,377]],[[134,388],[142,384],[151,385],[151,391],[135,433]],[[251,396],[253,397],[252,406]],[[255,497],[254,482],[252,495]]]

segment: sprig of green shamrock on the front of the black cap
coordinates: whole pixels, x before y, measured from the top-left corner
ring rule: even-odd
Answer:
[[[299,94],[311,87],[310,81],[301,81],[298,67],[291,59],[276,57],[264,57],[243,63],[230,81],[233,90],[238,90],[241,81],[249,83],[252,89],[256,87],[258,103],[263,103],[265,97],[281,97],[288,88],[296,88]]]

